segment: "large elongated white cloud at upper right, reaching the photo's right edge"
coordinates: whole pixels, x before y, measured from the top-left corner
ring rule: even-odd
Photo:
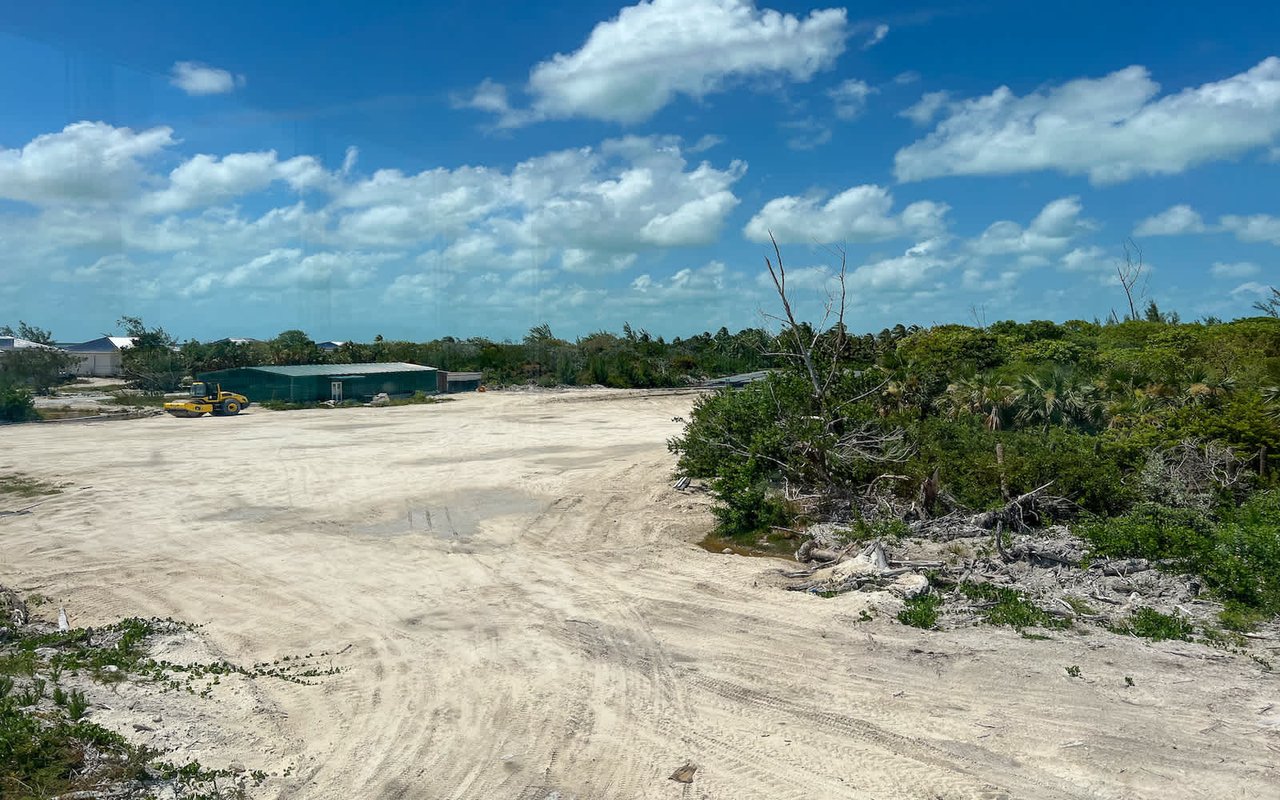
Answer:
[[[1158,95],[1142,67],[1025,96],[1000,87],[951,104],[929,136],[897,152],[895,172],[923,180],[1059,170],[1115,183],[1235,157],[1280,134],[1280,58]]]

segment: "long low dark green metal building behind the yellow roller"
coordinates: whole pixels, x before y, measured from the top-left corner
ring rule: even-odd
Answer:
[[[390,396],[439,393],[434,366],[416,364],[308,364],[303,366],[244,366],[201,372],[196,380],[221,384],[227,392],[243,394],[252,403],[283,401],[367,401],[385,392]]]

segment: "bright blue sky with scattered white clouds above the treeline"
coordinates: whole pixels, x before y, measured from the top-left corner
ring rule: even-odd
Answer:
[[[1274,3],[17,5],[0,321],[63,340],[736,329],[771,232],[858,330],[1106,316],[1129,237],[1185,319],[1280,283]]]

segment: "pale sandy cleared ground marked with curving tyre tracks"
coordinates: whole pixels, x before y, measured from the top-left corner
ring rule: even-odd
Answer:
[[[184,721],[184,755],[288,771],[266,796],[1277,796],[1280,680],[1248,659],[863,622],[864,598],[699,549],[709,517],[666,449],[690,401],[4,429],[0,471],[69,488],[0,517],[0,582],[78,625],[201,623],[241,663],[337,653],[320,685],[151,718]],[[686,762],[692,783],[668,780]]]

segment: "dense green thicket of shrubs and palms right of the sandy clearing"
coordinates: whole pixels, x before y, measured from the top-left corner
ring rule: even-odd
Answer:
[[[772,265],[771,265],[772,268]],[[1270,308],[1270,310],[1268,310]],[[1280,317],[897,325],[783,320],[782,367],[700,397],[669,442],[723,538],[998,508],[1052,486],[1091,557],[1199,576],[1225,623],[1280,613]],[[855,530],[863,531],[860,524]],[[968,589],[965,591],[978,591]],[[1056,627],[992,602],[1000,623]]]

